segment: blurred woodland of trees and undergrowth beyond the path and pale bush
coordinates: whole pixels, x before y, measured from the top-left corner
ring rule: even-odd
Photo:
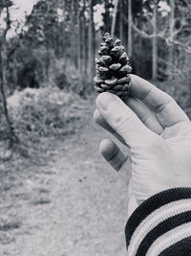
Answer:
[[[10,144],[18,136],[7,99],[26,88],[47,87],[87,97],[105,32],[120,38],[135,74],[157,81],[190,115],[189,0],[39,0],[22,21],[13,18],[15,4],[0,3],[0,132]]]

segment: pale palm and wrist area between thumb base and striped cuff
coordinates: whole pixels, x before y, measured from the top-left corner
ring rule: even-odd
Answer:
[[[160,137],[162,139],[156,145],[131,157],[133,191],[139,203],[168,189],[169,184],[172,187],[191,184],[190,123],[166,128]],[[183,172],[190,175],[183,179]]]

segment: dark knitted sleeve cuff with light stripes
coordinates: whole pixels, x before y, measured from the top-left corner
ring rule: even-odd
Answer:
[[[191,188],[145,200],[125,228],[128,256],[191,255]]]

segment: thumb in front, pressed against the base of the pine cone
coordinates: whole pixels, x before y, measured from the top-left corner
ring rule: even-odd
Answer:
[[[96,107],[130,148],[145,147],[159,136],[146,128],[136,113],[115,94],[109,92],[99,94],[96,99]]]

